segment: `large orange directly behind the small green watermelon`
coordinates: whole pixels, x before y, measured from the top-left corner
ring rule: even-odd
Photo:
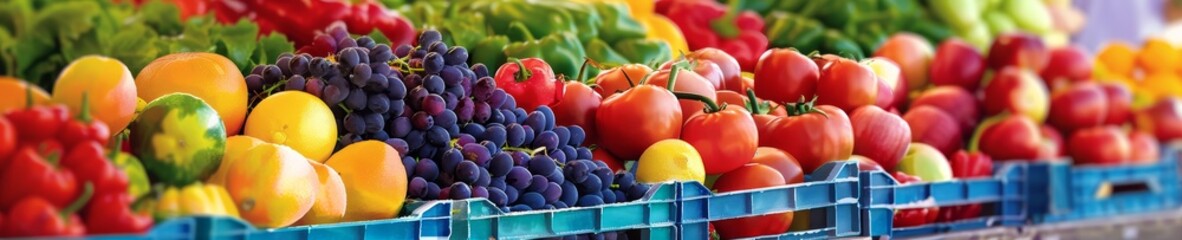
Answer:
[[[233,61],[220,54],[184,52],[157,58],[136,76],[136,87],[148,102],[173,92],[204,99],[217,110],[226,135],[238,135],[246,119],[246,79]]]

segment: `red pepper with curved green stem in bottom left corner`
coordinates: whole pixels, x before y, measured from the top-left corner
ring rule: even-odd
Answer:
[[[26,196],[11,208],[8,221],[0,233],[4,236],[82,236],[86,234],[86,226],[74,213],[90,201],[91,195],[93,189],[87,184],[83,194],[61,210],[41,196]]]

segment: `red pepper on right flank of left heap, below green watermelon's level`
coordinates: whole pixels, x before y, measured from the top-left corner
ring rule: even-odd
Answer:
[[[106,158],[106,149],[93,141],[78,143],[66,153],[61,167],[74,174],[77,183],[91,182],[96,195],[126,193],[128,175]]]

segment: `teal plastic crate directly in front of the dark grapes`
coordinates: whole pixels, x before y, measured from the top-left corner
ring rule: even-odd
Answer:
[[[485,199],[455,201],[453,239],[538,239],[639,229],[645,239],[676,239],[680,183],[656,184],[637,201],[504,213]]]

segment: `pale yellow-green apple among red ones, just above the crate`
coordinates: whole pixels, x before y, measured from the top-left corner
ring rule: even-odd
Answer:
[[[898,162],[898,171],[917,176],[924,182],[948,181],[953,179],[953,167],[940,150],[923,143],[911,143],[907,155]]]

